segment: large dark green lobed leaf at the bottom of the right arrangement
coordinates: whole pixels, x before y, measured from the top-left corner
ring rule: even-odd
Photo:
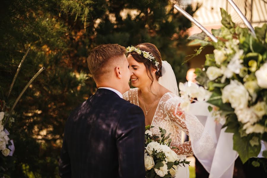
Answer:
[[[257,157],[260,153],[261,145],[251,146],[249,136],[241,137],[239,132],[233,135],[233,150],[236,150],[243,163],[251,157]]]

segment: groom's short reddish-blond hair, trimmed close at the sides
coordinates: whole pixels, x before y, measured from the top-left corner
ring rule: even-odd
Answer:
[[[125,55],[125,53],[125,47],[118,44],[104,44],[93,48],[89,53],[87,62],[94,80],[98,80],[102,75],[109,72],[111,63],[115,63],[115,59]]]

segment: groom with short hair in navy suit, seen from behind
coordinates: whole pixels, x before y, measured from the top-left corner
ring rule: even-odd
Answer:
[[[91,50],[88,67],[98,90],[66,122],[60,177],[145,177],[144,114],[122,97],[131,75],[125,52],[118,44]]]

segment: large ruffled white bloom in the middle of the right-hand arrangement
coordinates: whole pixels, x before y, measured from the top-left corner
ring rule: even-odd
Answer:
[[[247,107],[249,93],[237,80],[231,80],[229,85],[222,89],[222,102],[231,103],[232,108],[245,108]]]

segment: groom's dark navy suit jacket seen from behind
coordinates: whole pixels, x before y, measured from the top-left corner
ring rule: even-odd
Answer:
[[[115,92],[98,89],[69,116],[59,175],[143,178],[144,113]]]

